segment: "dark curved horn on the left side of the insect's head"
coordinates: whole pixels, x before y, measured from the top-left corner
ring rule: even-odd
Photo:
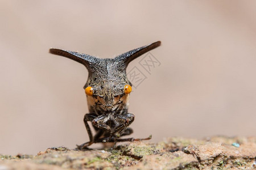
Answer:
[[[72,51],[62,50],[62,49],[55,49],[55,48],[49,49],[49,53],[73,59],[81,63],[82,65],[84,65],[86,68],[89,68],[89,65],[94,63],[95,60],[97,59],[96,57],[89,56],[88,54],[77,53],[77,52],[72,52]]]

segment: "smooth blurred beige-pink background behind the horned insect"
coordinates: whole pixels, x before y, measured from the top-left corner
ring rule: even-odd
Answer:
[[[0,154],[88,141],[87,70],[51,47],[112,58],[162,41],[132,137],[256,133],[256,1],[2,0],[0,22]]]

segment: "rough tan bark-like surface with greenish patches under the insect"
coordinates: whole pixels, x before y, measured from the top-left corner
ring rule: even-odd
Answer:
[[[2,169],[256,169],[256,137],[167,138],[106,150],[52,147],[38,155],[0,155]]]

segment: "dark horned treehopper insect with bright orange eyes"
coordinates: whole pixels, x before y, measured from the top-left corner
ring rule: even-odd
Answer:
[[[134,121],[134,114],[128,113],[131,82],[126,75],[126,68],[131,61],[142,54],[160,46],[156,41],[150,45],[130,50],[115,58],[97,58],[61,49],[49,49],[49,52],[73,59],[86,67],[88,80],[84,86],[89,113],[84,116],[84,124],[89,135],[89,142],[80,146],[84,149],[93,143],[124,142],[147,140],[120,137],[133,133],[128,126]],[[92,123],[96,134],[88,122]]]

